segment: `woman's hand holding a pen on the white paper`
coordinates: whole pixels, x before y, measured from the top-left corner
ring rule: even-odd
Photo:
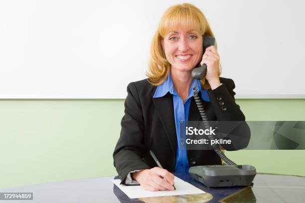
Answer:
[[[134,180],[140,183],[144,190],[174,190],[174,175],[159,167],[144,169],[142,171],[132,173],[131,176]]]

